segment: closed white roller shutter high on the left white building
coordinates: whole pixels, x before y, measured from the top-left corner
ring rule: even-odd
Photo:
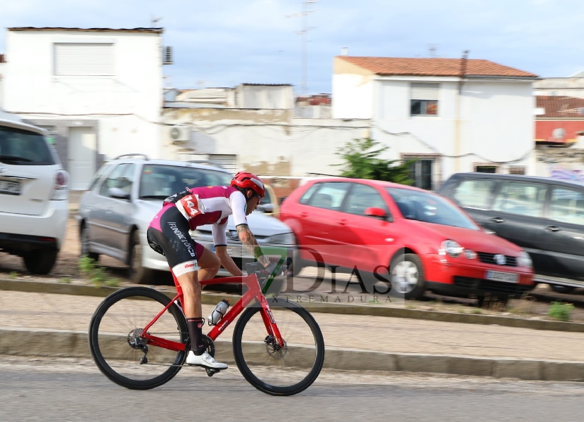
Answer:
[[[112,76],[113,44],[56,43],[55,75]]]

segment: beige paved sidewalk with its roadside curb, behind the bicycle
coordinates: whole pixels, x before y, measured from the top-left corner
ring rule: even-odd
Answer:
[[[89,357],[87,328],[103,298],[0,291],[0,354]],[[213,305],[203,305],[203,315]],[[325,367],[584,381],[584,334],[386,316],[313,312]],[[217,356],[233,326],[217,341]],[[218,340],[220,340],[218,339]],[[219,354],[220,353],[220,354]],[[232,362],[232,361],[231,361]]]

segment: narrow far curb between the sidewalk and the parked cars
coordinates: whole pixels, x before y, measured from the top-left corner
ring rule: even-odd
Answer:
[[[174,288],[160,286],[146,286],[155,288],[171,298],[176,295]],[[120,290],[118,287],[94,287],[78,284],[65,284],[54,282],[22,281],[0,279],[0,290],[15,290],[29,293],[57,293],[63,295],[86,295],[105,298],[110,293]],[[203,291],[201,302],[205,305],[215,305],[220,300],[228,298],[232,303],[239,300],[240,296],[233,294],[206,293]],[[286,300],[286,297],[281,297]],[[543,321],[535,319],[514,318],[512,316],[494,316],[478,314],[459,314],[456,312],[422,311],[419,309],[389,308],[376,305],[334,305],[325,302],[300,302],[310,312],[326,314],[350,314],[389,316],[393,318],[424,319],[429,321],[457,322],[464,324],[484,324],[508,326],[514,328],[531,328],[533,330],[566,331],[571,333],[584,333],[584,324],[576,322]]]

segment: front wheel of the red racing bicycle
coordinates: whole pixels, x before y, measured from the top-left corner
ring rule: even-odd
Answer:
[[[248,307],[234,329],[233,351],[239,371],[260,391],[295,395],[315,382],[324,364],[324,339],[317,321],[300,305],[269,298],[284,347],[267,333],[259,303]]]

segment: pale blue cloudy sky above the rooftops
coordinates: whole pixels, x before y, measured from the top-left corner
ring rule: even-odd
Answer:
[[[576,0],[318,0],[307,5],[307,91],[331,91],[332,59],[350,56],[492,60],[541,77],[584,70]],[[300,0],[0,0],[7,27],[164,27],[174,50],[167,85],[293,84],[300,92]],[[296,14],[296,16],[294,16]],[[9,60],[9,58],[8,58]]]

